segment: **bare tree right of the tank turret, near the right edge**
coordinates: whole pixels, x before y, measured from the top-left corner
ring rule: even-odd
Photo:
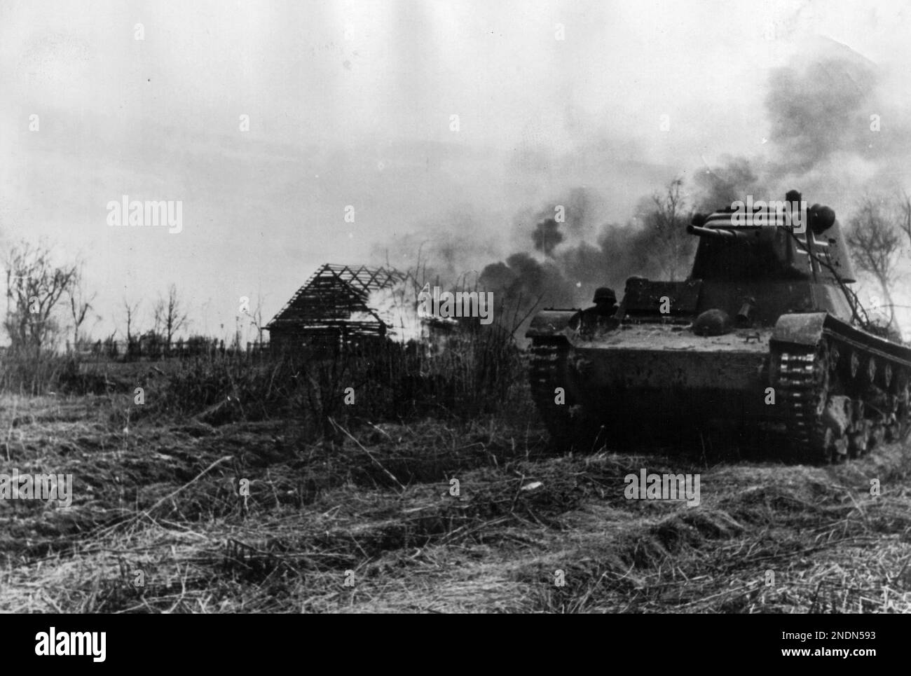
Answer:
[[[900,209],[898,213],[901,213]],[[889,323],[895,323],[896,310],[892,302],[892,286],[898,277],[901,257],[900,217],[890,214],[879,200],[865,197],[847,233],[855,265],[871,275],[879,284],[889,309]]]

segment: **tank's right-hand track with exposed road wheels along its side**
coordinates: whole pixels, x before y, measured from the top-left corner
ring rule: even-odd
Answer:
[[[841,462],[906,438],[906,364],[832,333],[816,346],[773,348],[772,360],[772,384],[796,459]]]

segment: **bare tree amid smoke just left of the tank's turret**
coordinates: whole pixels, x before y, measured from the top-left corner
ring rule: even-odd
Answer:
[[[651,258],[670,282],[685,277],[689,268],[693,238],[686,226],[691,215],[681,178],[671,180],[663,192],[655,192],[640,206],[639,217],[653,236]]]

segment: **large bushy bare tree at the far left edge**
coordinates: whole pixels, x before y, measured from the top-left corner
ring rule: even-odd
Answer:
[[[76,282],[77,265],[56,266],[46,244],[15,245],[5,261],[6,332],[12,347],[40,351],[59,335],[57,302]]]

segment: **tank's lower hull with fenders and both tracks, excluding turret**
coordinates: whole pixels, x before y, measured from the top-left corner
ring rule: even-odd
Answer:
[[[529,331],[532,393],[555,437],[772,425],[816,462],[907,434],[911,350],[827,312],[717,336],[679,320],[586,332],[578,316],[542,313]]]

